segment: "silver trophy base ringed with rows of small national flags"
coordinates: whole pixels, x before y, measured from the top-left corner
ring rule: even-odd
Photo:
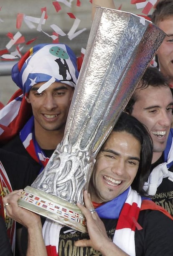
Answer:
[[[67,227],[87,233],[86,220],[81,210],[59,197],[26,186],[18,205]]]

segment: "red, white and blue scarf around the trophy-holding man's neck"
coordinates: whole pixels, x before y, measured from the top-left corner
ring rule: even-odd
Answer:
[[[112,219],[112,215],[114,215],[114,219],[118,218],[113,243],[130,256],[136,255],[135,228],[141,229],[140,225],[137,223],[141,202],[141,196],[130,187],[124,193],[120,194],[120,196],[114,198],[110,202],[102,204],[96,209],[99,217]],[[43,225],[43,238],[48,256],[58,255],[59,234],[61,228],[62,225],[51,220],[46,220]],[[73,231],[74,230],[71,230],[71,232]]]

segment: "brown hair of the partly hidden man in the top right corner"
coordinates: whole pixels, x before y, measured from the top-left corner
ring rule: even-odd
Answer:
[[[159,0],[151,16],[151,20],[156,25],[165,18],[173,16],[173,0]]]

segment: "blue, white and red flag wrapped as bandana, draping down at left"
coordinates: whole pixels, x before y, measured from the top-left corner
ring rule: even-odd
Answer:
[[[53,82],[74,87],[78,75],[77,58],[65,44],[38,44],[26,52],[12,69],[12,79],[20,90],[0,110],[0,143],[15,137],[31,117],[31,104],[25,96],[33,85],[45,82],[41,91]]]

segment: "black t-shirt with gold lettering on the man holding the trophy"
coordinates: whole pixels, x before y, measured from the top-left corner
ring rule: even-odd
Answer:
[[[117,220],[102,219],[102,221],[106,227],[107,235],[113,240]],[[140,211],[138,223],[142,226],[142,230],[135,231],[136,256],[173,256],[172,220],[162,212],[148,209]],[[63,227],[60,231],[59,256],[102,255],[91,247],[85,248],[74,246],[74,241],[79,239],[89,239],[89,236],[87,233],[83,234],[75,230],[73,232],[68,232],[68,230],[71,229]],[[24,255],[26,255],[27,239],[23,242],[23,252]]]

